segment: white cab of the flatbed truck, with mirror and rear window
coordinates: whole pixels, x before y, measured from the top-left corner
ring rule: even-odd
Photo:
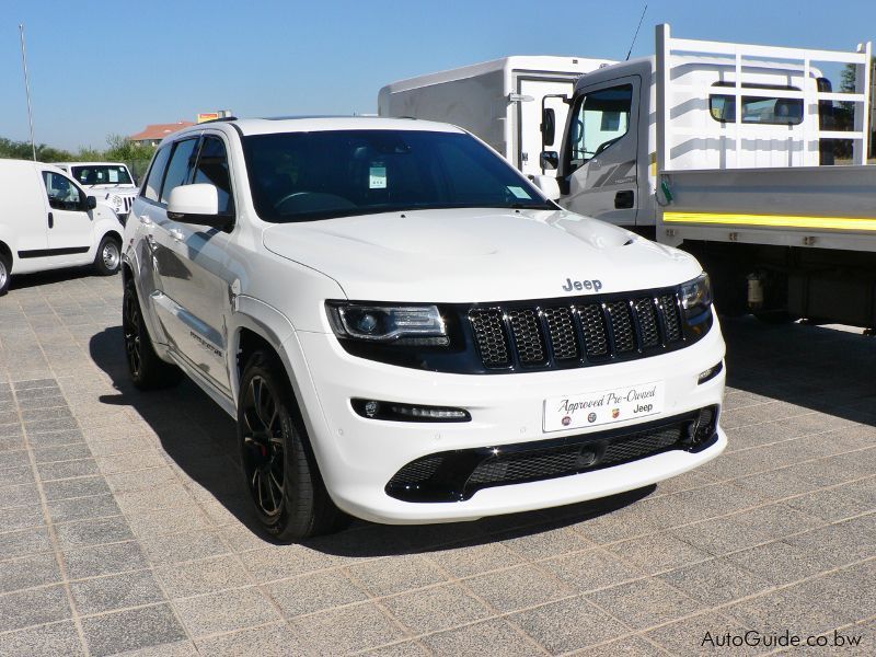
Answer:
[[[724,170],[833,164],[834,141],[819,129],[848,126],[844,108],[830,101],[804,112],[804,96],[830,91],[816,68],[766,60],[737,67],[733,58],[672,57],[672,99],[657,111],[655,57],[608,66],[578,79],[563,135],[542,129],[542,162],[555,180],[537,181],[561,206],[649,237],[658,214],[657,122],[671,127],[668,152],[675,169]],[[741,116],[745,135],[738,131]],[[542,125],[550,128],[546,117]],[[737,142],[741,148],[736,148]],[[815,143],[815,147],[811,147]]]

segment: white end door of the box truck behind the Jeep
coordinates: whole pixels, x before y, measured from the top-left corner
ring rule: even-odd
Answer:
[[[575,81],[573,79],[549,80],[520,78],[517,84],[521,96],[532,99],[531,101],[518,103],[517,142],[519,148],[517,168],[523,172],[523,175],[541,175],[544,173],[539,162],[542,151],[541,130],[539,129],[541,125],[542,99],[551,94],[570,96],[575,89]],[[544,99],[544,107],[550,107],[554,111],[556,115],[556,125],[563,126],[566,124],[568,105],[563,102],[563,99]],[[558,147],[558,145],[556,146]],[[545,148],[551,150],[551,145],[548,145]]]

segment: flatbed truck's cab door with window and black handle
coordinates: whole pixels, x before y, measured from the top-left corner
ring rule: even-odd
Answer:
[[[638,76],[600,82],[579,93],[566,127],[561,205],[619,226],[635,226]]]

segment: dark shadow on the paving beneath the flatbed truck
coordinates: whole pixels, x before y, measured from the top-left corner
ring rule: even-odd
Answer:
[[[876,337],[751,315],[721,321],[730,389],[876,426]]]

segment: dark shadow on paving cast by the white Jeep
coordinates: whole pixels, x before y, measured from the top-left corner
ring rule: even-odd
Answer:
[[[113,380],[116,393],[101,395],[104,404],[129,406],[152,428],[164,451],[204,493],[265,544],[240,473],[234,420],[184,378],[177,385],[142,392],[130,382],[120,326],[94,335],[89,344],[94,362]],[[319,537],[304,545],[327,554],[373,557],[412,551],[434,551],[460,543],[488,543],[567,527],[610,514],[654,493],[656,486],[612,497],[472,522],[431,526],[384,526],[355,520],[349,529]]]

